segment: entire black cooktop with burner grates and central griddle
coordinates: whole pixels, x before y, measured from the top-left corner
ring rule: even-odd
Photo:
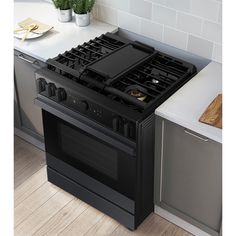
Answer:
[[[161,104],[196,74],[192,64],[111,34],[49,59],[47,67],[138,112]]]

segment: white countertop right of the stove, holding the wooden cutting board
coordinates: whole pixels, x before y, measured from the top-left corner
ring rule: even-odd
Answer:
[[[222,64],[211,62],[159,106],[155,114],[222,143],[221,129],[198,121],[219,93],[222,93]]]

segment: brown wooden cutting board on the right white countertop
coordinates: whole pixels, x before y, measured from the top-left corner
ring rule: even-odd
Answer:
[[[219,94],[206,111],[201,115],[200,122],[222,129],[222,94]]]

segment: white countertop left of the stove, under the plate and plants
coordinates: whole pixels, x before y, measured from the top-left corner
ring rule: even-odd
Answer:
[[[15,38],[14,48],[43,62],[101,34],[118,30],[117,26],[96,20],[92,20],[87,27],[76,26],[74,19],[72,22],[60,23],[54,5],[48,2],[14,2],[15,25],[28,17],[52,25],[54,28],[42,37],[26,40],[23,43]]]

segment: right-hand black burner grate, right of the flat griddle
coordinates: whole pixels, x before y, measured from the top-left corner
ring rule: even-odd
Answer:
[[[140,92],[144,93],[146,98],[142,101],[142,106],[140,101],[138,103],[139,108],[144,110],[147,106],[161,100],[175,86],[195,72],[196,68],[193,65],[157,52],[151,59],[112,84],[112,87],[121,91],[122,93],[117,94],[126,101],[129,100],[127,95],[131,96],[127,88],[131,85],[141,88]],[[125,94],[124,97],[122,94]]]

